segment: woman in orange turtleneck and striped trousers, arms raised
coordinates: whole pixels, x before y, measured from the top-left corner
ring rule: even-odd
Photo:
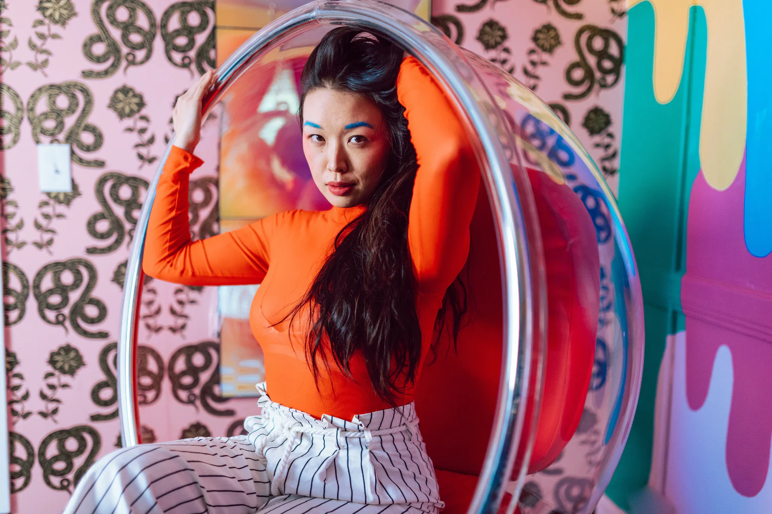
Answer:
[[[250,324],[265,354],[262,412],[246,436],[107,455],[65,512],[437,512],[412,398],[435,328],[447,314],[457,332],[463,310],[452,284],[479,170],[462,126],[415,59],[335,29],[303,69],[300,107],[303,152],[333,207],[191,243],[188,176],[212,82],[208,72],[174,108],[144,270],[261,284]]]

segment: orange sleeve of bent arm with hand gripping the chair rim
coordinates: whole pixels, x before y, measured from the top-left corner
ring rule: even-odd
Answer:
[[[202,163],[192,153],[172,147],[147,226],[144,272],[195,286],[259,284],[268,270],[269,241],[277,217],[191,242],[188,181]]]

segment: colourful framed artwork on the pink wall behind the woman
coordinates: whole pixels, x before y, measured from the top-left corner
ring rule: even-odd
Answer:
[[[218,0],[218,66],[260,28],[305,4],[303,0]],[[430,0],[390,2],[431,16]],[[324,210],[327,200],[311,180],[303,156],[297,112],[300,72],[307,52],[297,58],[265,59],[259,73],[232,86],[221,102],[219,215],[222,232],[286,210]],[[234,89],[234,88],[240,88]],[[229,101],[229,98],[232,101]],[[249,328],[249,309],[257,285],[218,289],[221,320],[223,396],[254,396],[265,378],[259,341]]]

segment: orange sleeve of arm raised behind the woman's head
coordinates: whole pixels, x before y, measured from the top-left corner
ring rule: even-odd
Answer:
[[[418,158],[408,247],[418,291],[436,294],[452,284],[469,256],[479,166],[445,94],[412,57],[402,62],[397,94]]]

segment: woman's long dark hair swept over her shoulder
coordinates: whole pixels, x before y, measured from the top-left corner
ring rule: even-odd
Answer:
[[[335,365],[351,376],[350,358],[361,351],[374,391],[392,406],[397,394],[415,384],[422,354],[408,251],[408,211],[417,165],[396,86],[402,57],[403,51],[381,35],[341,27],[324,36],[303,67],[301,126],[303,102],[313,89],[357,92],[381,109],[391,153],[367,209],[340,230],[303,300],[285,317],[292,318],[291,327],[304,307],[309,311],[305,350],[317,387],[317,358],[329,368],[329,351]],[[435,355],[444,331],[452,334],[455,344],[465,311],[466,289],[456,279],[435,320]]]

